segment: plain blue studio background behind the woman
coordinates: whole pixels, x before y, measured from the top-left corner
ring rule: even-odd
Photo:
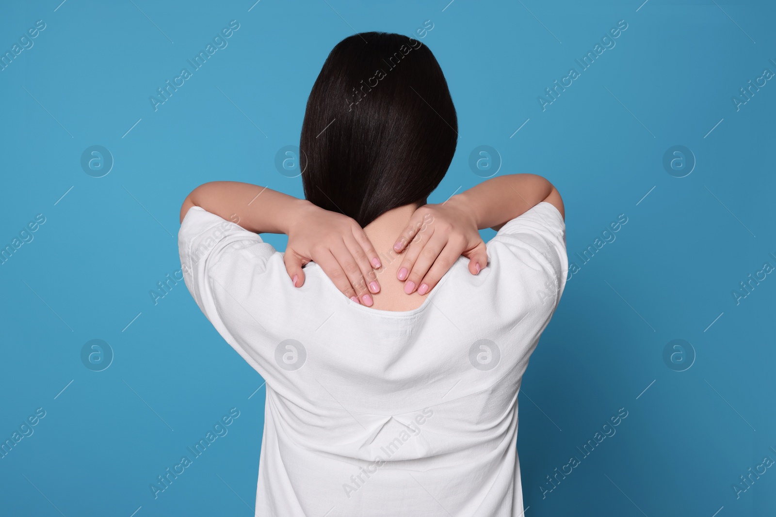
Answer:
[[[46,29],[0,71],[0,244],[36,214],[46,222],[0,265],[0,438],[36,408],[47,414],[0,459],[2,515],[252,515],[262,378],[182,282],[156,305],[149,291],[180,269],[178,211],[198,184],[302,194],[275,153],[298,144],[335,43],[412,35],[425,20],[460,134],[431,202],[481,181],[469,153],[488,145],[499,174],[559,188],[571,261],[628,218],[568,281],[525,375],[525,515],[773,515],[776,468],[740,498],[732,485],[776,459],[776,277],[738,305],[732,291],[776,265],[776,82],[739,111],[731,98],[776,71],[774,4],[448,1],[4,6],[3,53],[36,20]],[[232,19],[228,47],[154,111],[149,96]],[[542,111],[537,96],[620,19],[616,46]],[[92,145],[113,154],[103,178],[81,169]],[[674,145],[695,154],[687,177],[663,168]],[[81,363],[90,339],[115,353],[105,371]],[[687,371],[663,362],[671,339],[694,347]],[[154,499],[149,484],[233,407],[227,436]],[[542,498],[546,476],[619,408],[629,415],[615,436]]]

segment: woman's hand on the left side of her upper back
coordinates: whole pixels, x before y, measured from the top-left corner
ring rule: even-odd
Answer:
[[[355,219],[300,200],[289,223],[284,262],[294,286],[304,283],[302,266],[311,260],[331,278],[334,285],[362,305],[372,305],[372,293],[379,292],[375,269],[377,252]]]

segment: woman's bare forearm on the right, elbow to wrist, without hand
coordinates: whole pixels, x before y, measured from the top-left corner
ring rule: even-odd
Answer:
[[[563,215],[563,202],[556,188],[536,174],[491,178],[449,199],[473,215],[477,229],[495,230],[542,201],[552,202]]]

